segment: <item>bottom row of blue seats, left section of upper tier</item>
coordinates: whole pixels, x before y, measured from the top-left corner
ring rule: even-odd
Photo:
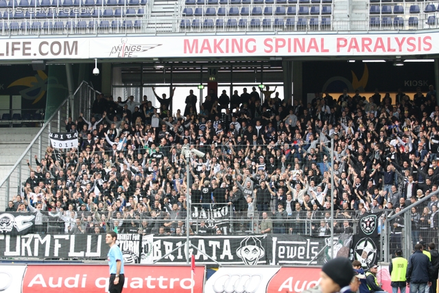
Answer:
[[[138,28],[141,27],[142,23],[141,21],[100,21],[98,23],[97,21],[89,21],[88,23],[86,21],[78,21],[75,23],[75,21],[67,21],[66,23],[62,21],[56,21],[55,23],[52,23],[51,21],[45,21],[44,23],[40,23],[39,21],[35,21],[34,23],[29,22],[23,22],[21,25],[19,23],[10,23],[8,26],[8,23],[0,22],[0,31],[3,30],[71,30],[71,29],[93,29],[95,27],[99,28]]]

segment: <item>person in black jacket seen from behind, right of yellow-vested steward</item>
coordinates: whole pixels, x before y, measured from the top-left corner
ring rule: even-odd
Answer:
[[[433,280],[433,266],[427,255],[423,254],[423,245],[416,244],[414,253],[410,255],[405,280],[410,292],[425,292],[425,287]]]

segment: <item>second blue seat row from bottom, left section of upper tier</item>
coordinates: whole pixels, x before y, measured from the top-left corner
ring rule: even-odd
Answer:
[[[3,13],[3,19],[52,19],[52,18],[60,18],[60,19],[74,19],[78,17],[121,17],[121,16],[143,16],[145,14],[145,10],[143,8],[137,10],[134,9],[127,9],[126,12],[123,12],[121,9],[116,9],[114,12],[111,9],[106,9],[104,12],[99,9],[95,9],[93,13],[90,12],[70,12],[66,13],[63,11],[60,11],[58,13],[52,13],[52,12],[36,12],[29,13],[26,12],[25,14],[23,12],[15,12],[15,13],[8,13],[5,11]],[[0,12],[0,19],[2,18],[1,12]]]

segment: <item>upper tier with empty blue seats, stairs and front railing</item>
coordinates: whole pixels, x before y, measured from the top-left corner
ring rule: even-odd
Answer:
[[[0,0],[0,35],[423,30],[439,14],[439,1],[368,0],[349,19],[342,0],[149,1]]]

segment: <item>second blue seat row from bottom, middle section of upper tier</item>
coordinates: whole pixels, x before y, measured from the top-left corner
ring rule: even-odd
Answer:
[[[304,13],[303,11],[301,12],[299,10],[300,15],[304,15],[304,14],[320,14],[320,10],[318,9],[312,9],[313,7],[311,7],[311,11],[308,13]],[[226,8],[218,8],[218,11],[215,10],[215,8],[206,8],[206,10],[203,10],[203,8],[195,8],[195,12],[193,11],[192,8],[185,8],[183,10],[183,15],[184,16],[226,16],[226,15],[230,15],[230,16],[237,16],[237,15],[241,15],[241,16],[248,16],[248,15],[253,15],[253,16],[257,16],[257,15],[273,15],[273,8],[272,7],[265,7],[263,10],[261,7],[254,7],[251,10],[247,7],[243,7],[241,8],[241,12],[239,12],[239,8],[237,7],[231,7],[228,10],[228,14],[226,13]],[[287,10],[285,10],[285,7],[281,6],[281,7],[276,7],[276,10],[274,10],[274,15],[296,15],[296,6],[289,6]],[[322,8],[322,14],[331,14],[331,6],[324,6]]]

